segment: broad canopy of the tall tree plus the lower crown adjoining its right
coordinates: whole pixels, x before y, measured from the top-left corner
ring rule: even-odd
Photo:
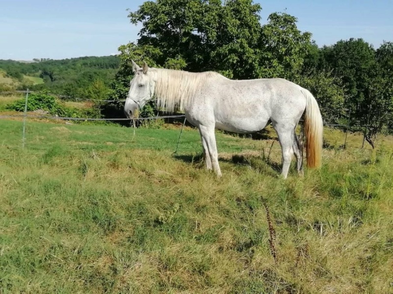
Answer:
[[[261,25],[260,11],[252,0],[157,0],[144,2],[129,18],[142,25],[138,47],[157,49],[155,56],[140,57],[159,66],[236,79],[298,73],[311,34],[300,32],[297,19],[285,13],[272,13]]]

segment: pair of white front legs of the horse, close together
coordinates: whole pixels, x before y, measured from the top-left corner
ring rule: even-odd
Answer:
[[[204,149],[204,153],[206,154],[206,168],[209,170],[213,168],[213,170],[217,173],[218,176],[222,176],[220,166],[218,164],[218,151],[216,145],[216,137],[214,134],[214,125],[199,125],[199,132],[202,140],[202,146]]]

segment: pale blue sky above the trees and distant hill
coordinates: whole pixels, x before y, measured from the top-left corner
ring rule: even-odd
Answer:
[[[1,0],[0,59],[71,58],[117,53],[136,41],[138,27],[127,8],[143,0]],[[319,46],[363,38],[378,48],[393,41],[393,0],[254,0],[262,5],[261,23],[283,11],[298,18]],[[372,3],[371,3],[372,2]]]

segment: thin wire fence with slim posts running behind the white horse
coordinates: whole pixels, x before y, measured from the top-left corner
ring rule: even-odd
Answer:
[[[0,115],[0,119],[13,119],[13,118],[23,118],[23,134],[22,134],[22,142],[23,142],[23,147],[25,147],[25,140],[26,140],[26,121],[27,119],[34,118],[34,119],[47,119],[47,120],[62,120],[62,121],[130,121],[130,122],[136,122],[136,121],[147,121],[147,120],[159,120],[159,119],[179,119],[179,118],[185,118],[185,115],[167,115],[167,116],[155,116],[155,117],[147,117],[147,118],[78,118],[78,117],[59,117],[59,116],[47,116],[47,115],[28,115],[27,109],[28,109],[28,94],[34,94],[34,93],[39,93],[35,91],[29,91],[27,90],[18,90],[18,91],[4,91],[0,92],[0,95],[9,95],[9,94],[26,94],[25,96],[25,112],[23,115]],[[99,101],[99,102],[125,102],[126,100],[101,100],[101,99],[86,99],[86,98],[74,98],[66,95],[58,95],[58,94],[52,94],[52,96],[56,96],[58,98],[68,98],[72,100],[77,100],[77,101]],[[344,143],[342,145],[343,148],[347,147],[347,136],[348,136],[348,130],[350,130],[350,119],[351,119],[351,110],[349,109],[349,115],[348,115],[348,121],[347,124],[339,124],[339,123],[328,123],[328,122],[323,122],[324,126],[329,126],[329,127],[344,127],[345,128],[345,139]],[[303,123],[303,120],[299,121],[300,123]],[[180,131],[180,136],[183,130],[183,127],[186,123],[186,119],[184,119],[184,123],[182,125],[182,129]],[[368,123],[367,125],[360,126],[364,127],[364,136],[363,136],[363,143],[362,143],[362,148],[364,147],[365,143],[365,135],[367,132],[368,128]],[[179,136],[179,140],[180,140]],[[179,144],[179,142],[178,142]],[[351,146],[352,147],[352,146]],[[176,148],[177,150],[177,148]]]

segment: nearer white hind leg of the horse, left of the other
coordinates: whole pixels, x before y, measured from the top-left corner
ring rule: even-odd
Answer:
[[[279,136],[279,141],[281,145],[282,152],[282,170],[281,175],[286,179],[288,176],[289,167],[291,165],[293,150],[293,129],[294,127],[286,123],[274,123],[277,135]]]

